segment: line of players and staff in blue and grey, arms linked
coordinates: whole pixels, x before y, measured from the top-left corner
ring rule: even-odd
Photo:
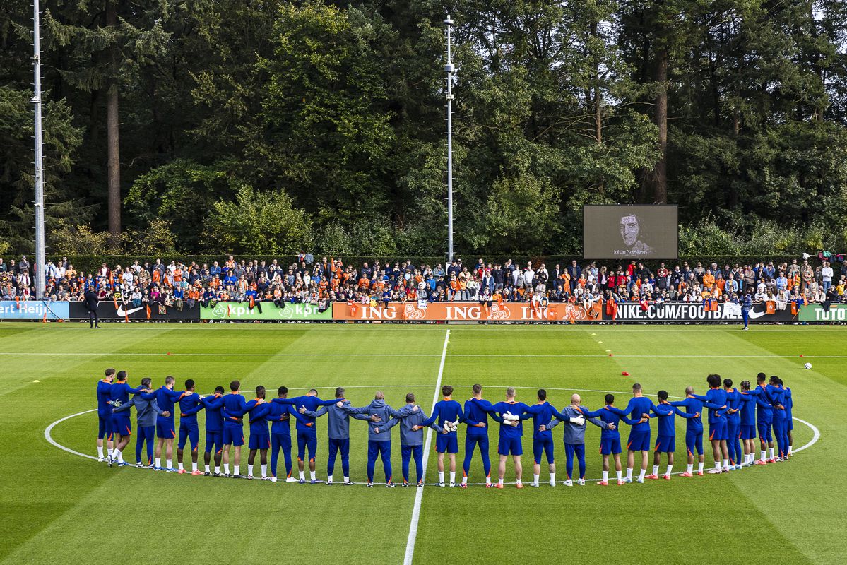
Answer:
[[[667,391],[658,391],[658,403],[643,395],[641,385],[633,385],[633,397],[623,409],[615,406],[615,397],[607,394],[605,406],[590,410],[580,402],[579,395],[571,397],[571,403],[556,410],[546,400],[546,391],[538,391],[538,402],[529,406],[515,400],[515,389],[506,391],[504,402],[491,402],[482,397],[482,385],[473,385],[473,396],[464,406],[452,400],[453,388],[442,388],[444,399],[436,402],[432,414],[428,417],[419,407],[412,393],[406,396],[406,405],[395,410],[385,403],[382,392],[377,392],[374,401],[367,406],[353,407],[345,398],[345,390],[337,388],[335,398],[322,400],[318,391],[311,390],[305,396],[288,397],[288,389],[280,386],[278,397],[266,398],[263,386],[256,388],[256,398],[247,401],[241,395],[241,383],[230,383],[230,392],[224,394],[224,387],[216,388],[213,395],[201,396],[194,391],[194,381],[185,381],[185,391],[174,391],[174,377],[167,377],[165,384],[152,390],[151,379],[141,379],[141,385],[132,387],[127,383],[125,371],[115,374],[113,368],[106,370],[105,378],[97,382],[99,433],[97,435],[98,461],[109,466],[128,465],[123,459],[123,451],[129,445],[132,435],[130,407],[136,407],[138,434],[136,439],[136,466],[159,471],[185,474],[183,457],[186,444],[191,447],[191,474],[216,477],[245,478],[241,474],[241,446],[245,444],[244,419],[250,429],[246,479],[253,479],[253,466],[257,453],[260,457],[261,474],[258,478],[276,482],[277,463],[280,451],[285,458],[285,481],[304,484],[324,483],[316,479],[315,461],[318,449],[317,418],[328,416],[329,457],[327,460],[326,484],[333,484],[335,460],[340,454],[344,485],[353,485],[350,479],[350,418],[368,422],[368,486],[374,485],[374,468],[380,457],[385,473],[385,485],[393,487],[391,470],[391,432],[400,427],[401,460],[403,486],[424,485],[424,429],[432,428],[437,432],[435,451],[438,453],[438,485],[451,487],[456,485],[456,455],[458,453],[457,427],[467,426],[465,435],[465,457],[462,465],[462,479],[459,486],[468,485],[468,474],[473,452],[479,448],[482,459],[485,486],[503,488],[507,459],[512,457],[517,487],[523,488],[523,421],[533,419],[533,482],[530,486],[540,485],[540,466],[546,458],[550,485],[556,486],[556,464],[553,457],[553,438],[551,430],[562,424],[564,428],[564,446],[566,454],[567,479],[564,485],[572,486],[573,463],[579,465],[578,485],[585,484],[585,429],[586,422],[601,428],[600,453],[602,455],[603,479],[599,485],[608,485],[610,457],[617,472],[617,484],[625,485],[645,479],[659,479],[659,467],[662,454],[667,456],[667,470],[661,475],[670,479],[673,470],[673,455],[676,447],[675,416],[685,418],[685,446],[688,455],[686,471],[681,474],[691,477],[695,473],[703,475],[703,435],[704,427],[701,413],[708,409],[709,440],[714,456],[714,468],[707,474],[721,474],[739,470],[747,466],[778,463],[791,457],[794,429],[792,423],[793,400],[791,390],[783,385],[782,379],[772,376],[766,382],[766,375],[756,377],[756,387],[750,382],[741,382],[741,390],[734,388],[730,379],[721,379],[717,374],[706,378],[709,390],[706,395],[697,395],[693,387],[685,389],[685,398],[678,402],[669,402]],[[130,394],[133,395],[130,398]],[[684,408],[684,411],[680,410]],[[178,468],[173,468],[174,440],[177,439],[174,427],[174,413],[180,412],[180,435],[177,440]],[[206,446],[204,454],[205,471],[197,468],[199,426],[197,413],[206,411]],[[491,462],[489,457],[489,418],[500,424],[497,453],[500,456],[498,481],[491,482]],[[647,475],[650,451],[650,419],[658,420],[658,436],[653,447],[653,469]],[[299,479],[292,474],[291,461],[291,420],[296,421],[297,465]],[[627,468],[623,475],[621,463],[620,423],[630,426],[627,441]],[[268,424],[270,429],[268,430]],[[756,433],[761,443],[761,457],[756,460]],[[774,451],[774,439],[776,449]],[[153,442],[156,441],[155,451]],[[107,452],[104,455],[103,444]],[[147,447],[147,459],[142,460],[142,448]],[[230,452],[232,448],[233,452]],[[165,463],[162,464],[164,451]],[[268,474],[268,451],[270,451],[270,474]],[[635,456],[640,452],[641,467],[639,476],[633,479]],[[308,457],[307,457],[308,453]],[[695,455],[696,453],[696,455]],[[449,483],[445,481],[445,454],[449,461]],[[231,459],[230,459],[231,455]],[[694,465],[698,464],[695,472]],[[412,459],[416,467],[416,483],[409,477]],[[230,460],[232,470],[230,472]],[[210,466],[214,465],[212,471]],[[221,464],[223,463],[223,473]],[[305,476],[308,465],[310,480]]]

